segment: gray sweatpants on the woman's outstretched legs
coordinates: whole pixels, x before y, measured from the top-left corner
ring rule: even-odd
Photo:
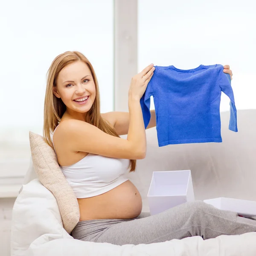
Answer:
[[[132,219],[79,221],[72,236],[99,243],[150,244],[188,236],[203,239],[256,231],[256,219],[239,217],[203,201],[178,205],[156,215],[142,213]]]

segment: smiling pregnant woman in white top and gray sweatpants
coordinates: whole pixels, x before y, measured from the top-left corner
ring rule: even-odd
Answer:
[[[232,78],[228,65],[224,72]],[[136,160],[146,155],[140,98],[153,73],[151,64],[132,77],[128,113],[100,113],[98,81],[88,59],[80,52],[64,52],[52,61],[44,103],[44,138],[55,149],[79,203],[80,220],[72,236],[122,245],[256,231],[255,220],[201,201],[152,216],[141,212],[140,193],[124,175],[134,172]],[[154,126],[156,117],[151,111],[147,128]],[[128,134],[127,139],[120,138],[122,134]]]

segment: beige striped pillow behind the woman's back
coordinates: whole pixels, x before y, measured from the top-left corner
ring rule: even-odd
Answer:
[[[31,131],[29,142],[35,172],[41,183],[55,196],[63,227],[70,234],[80,218],[76,196],[59,167],[54,149],[41,135]]]

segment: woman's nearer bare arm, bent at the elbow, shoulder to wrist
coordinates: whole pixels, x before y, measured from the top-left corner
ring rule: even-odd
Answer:
[[[143,159],[146,152],[145,129],[139,104],[140,102],[136,101],[131,103],[131,122],[127,140],[106,134],[94,125],[76,119],[63,121],[58,129],[58,136],[62,138],[62,143],[74,152],[123,159]]]

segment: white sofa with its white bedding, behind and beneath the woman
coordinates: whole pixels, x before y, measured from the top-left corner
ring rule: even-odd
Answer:
[[[136,172],[128,176],[142,195],[144,212],[149,211],[147,192],[153,171],[190,169],[197,200],[230,197],[256,201],[256,110],[238,111],[238,133],[228,130],[229,116],[229,112],[221,113],[223,143],[159,148],[156,129],[146,131],[147,156],[137,161]],[[31,163],[13,208],[11,252],[12,256],[255,256],[256,232],[123,246],[79,241],[64,230],[57,202],[36,179]]]

